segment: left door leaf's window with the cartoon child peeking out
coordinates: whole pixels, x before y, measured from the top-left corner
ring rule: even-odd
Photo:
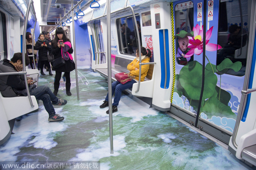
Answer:
[[[180,65],[186,65],[194,60],[194,56],[185,58],[184,56],[190,50],[188,48],[188,36],[193,31],[194,25],[194,7],[192,1],[183,2],[175,6],[175,38],[176,38],[176,62]]]

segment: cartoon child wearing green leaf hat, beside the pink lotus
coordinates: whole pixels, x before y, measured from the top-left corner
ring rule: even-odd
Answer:
[[[186,65],[188,63],[188,61],[190,60],[191,57],[185,58],[185,51],[188,48],[188,36],[189,37],[193,37],[194,36],[194,32],[186,32],[184,30],[181,30],[178,34],[176,34],[176,37],[178,37],[178,50],[177,50],[177,62],[180,65]]]

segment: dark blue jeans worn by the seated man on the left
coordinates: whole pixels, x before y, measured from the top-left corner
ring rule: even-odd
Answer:
[[[44,103],[44,108],[49,115],[55,114],[55,110],[52,103],[59,102],[58,97],[56,97],[48,86],[39,86],[35,89],[30,90],[30,95],[35,96],[36,99],[42,100]]]

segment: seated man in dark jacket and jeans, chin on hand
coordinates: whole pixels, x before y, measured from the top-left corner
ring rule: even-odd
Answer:
[[[29,64],[29,58],[26,54],[26,65]],[[4,59],[0,61],[0,73],[19,72],[23,70],[22,53],[15,53],[11,61]],[[58,99],[48,86],[39,86],[36,88],[33,80],[27,80],[30,95],[35,96],[37,100],[42,100],[44,108],[49,114],[48,121],[61,121],[64,117],[55,113],[52,105],[65,105],[67,100]],[[24,75],[0,75],[0,91],[4,97],[27,96],[26,83]]]

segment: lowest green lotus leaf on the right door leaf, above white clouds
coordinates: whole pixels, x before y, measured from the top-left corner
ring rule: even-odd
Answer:
[[[220,116],[236,119],[236,114],[232,112],[231,108],[221,103],[215,97],[211,97],[205,102],[204,107],[200,110],[200,113],[202,112],[204,112],[208,118],[212,116]]]

